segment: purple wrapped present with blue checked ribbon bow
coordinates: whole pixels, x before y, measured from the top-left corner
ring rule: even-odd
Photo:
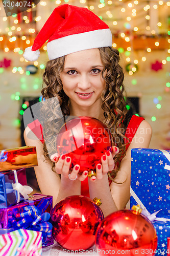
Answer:
[[[21,203],[0,209],[0,233],[8,228],[41,231],[42,246],[51,245],[54,243],[49,221],[52,207],[52,196],[34,194]]]

